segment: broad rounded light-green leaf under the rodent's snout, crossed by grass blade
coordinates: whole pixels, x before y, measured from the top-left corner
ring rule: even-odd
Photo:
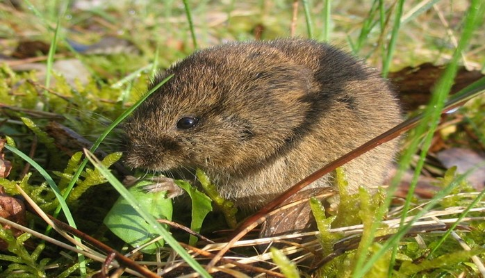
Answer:
[[[129,188],[129,193],[154,218],[172,220],[172,200],[165,197],[166,191],[147,192],[145,186],[149,183],[149,181],[140,181]],[[135,208],[124,197],[120,197],[113,205],[113,208],[104,218],[104,224],[113,231],[113,234],[133,247],[145,245],[158,236],[156,230],[147,224],[145,219],[135,211]],[[165,229],[167,228],[166,225],[163,226]],[[141,251],[147,254],[154,254],[156,248],[163,247],[163,245],[164,241],[161,239],[156,243],[151,243]]]

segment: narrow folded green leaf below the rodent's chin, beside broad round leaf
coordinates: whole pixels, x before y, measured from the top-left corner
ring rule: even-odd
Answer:
[[[176,180],[174,182],[190,196],[190,199],[192,200],[192,220],[190,222],[190,229],[200,232],[207,213],[212,211],[211,198],[207,197],[207,195],[200,192],[186,181]],[[195,245],[195,243],[197,243],[197,238],[190,235],[189,244]]]

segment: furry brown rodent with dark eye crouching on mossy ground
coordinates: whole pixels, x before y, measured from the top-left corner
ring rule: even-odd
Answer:
[[[126,163],[151,171],[199,167],[240,208],[263,206],[401,120],[377,70],[314,40],[199,50],[151,86],[170,74],[124,124]],[[380,186],[396,150],[393,140],[347,163],[350,191]],[[327,186],[331,174],[312,185]]]

